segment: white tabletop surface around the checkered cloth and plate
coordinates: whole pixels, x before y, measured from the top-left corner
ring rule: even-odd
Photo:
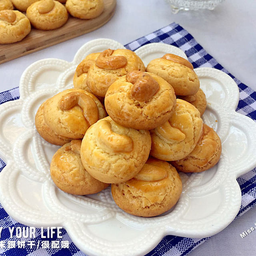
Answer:
[[[22,72],[44,58],[72,61],[77,50],[96,38],[127,44],[172,22],[188,30],[204,49],[230,73],[256,90],[256,1],[225,0],[215,10],[172,14],[164,0],[117,0],[116,13],[103,27],[56,46],[0,64],[0,92],[19,85]],[[256,207],[222,232],[198,246],[190,256],[256,255],[256,231],[246,238],[240,233],[254,226]],[[169,254],[167,254],[169,255]]]

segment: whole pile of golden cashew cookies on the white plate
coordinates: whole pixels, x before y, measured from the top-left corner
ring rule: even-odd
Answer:
[[[35,120],[45,140],[62,146],[50,172],[63,191],[92,194],[111,184],[124,211],[157,216],[180,198],[177,170],[218,162],[220,138],[203,124],[206,97],[184,58],[166,54],[145,67],[130,50],[107,49],[86,56],[73,82]]]

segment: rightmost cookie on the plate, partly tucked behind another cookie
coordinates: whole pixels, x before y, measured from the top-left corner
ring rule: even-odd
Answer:
[[[221,141],[218,134],[204,124],[201,139],[194,150],[185,158],[173,161],[172,165],[181,172],[203,172],[212,168],[220,159]]]

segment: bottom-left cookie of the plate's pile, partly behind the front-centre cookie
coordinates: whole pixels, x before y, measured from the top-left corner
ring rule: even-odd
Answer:
[[[98,193],[109,184],[94,179],[80,159],[81,140],[71,140],[52,157],[50,172],[53,182],[64,192],[75,195]]]

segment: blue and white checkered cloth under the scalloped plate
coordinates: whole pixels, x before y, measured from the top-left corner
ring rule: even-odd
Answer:
[[[204,48],[189,34],[184,28],[176,23],[172,23],[160,30],[157,30],[147,36],[139,38],[134,42],[126,45],[126,48],[130,50],[136,50],[144,44],[149,44],[152,42],[164,42],[166,44],[171,44],[179,47],[188,56],[188,60],[193,64],[194,68],[198,67],[213,67],[230,75],[234,81],[237,83],[240,90],[240,100],[237,107],[237,112],[249,116],[253,120],[256,120],[256,92],[251,88],[241,83],[232,74],[230,74],[225,68],[223,68],[210,54],[208,54]],[[7,102],[9,100],[16,100],[19,98],[18,88],[0,93],[0,104]],[[5,163],[0,159],[0,171],[4,168]],[[237,179],[241,191],[242,191],[242,205],[236,216],[238,218],[244,212],[252,208],[256,204],[256,168],[250,172],[244,174]],[[62,230],[63,238],[52,238],[48,239],[51,241],[69,241],[69,248],[42,248],[37,246],[26,245],[24,248],[18,248],[18,241],[20,239],[14,237],[10,238],[10,232],[8,227],[25,227],[24,225],[16,222],[4,211],[0,205],[0,228],[3,227],[2,236],[0,238],[0,256],[85,256],[70,240],[66,230]],[[41,237],[41,230],[36,229],[36,238],[29,239],[34,241],[34,244],[38,245],[43,242]],[[192,239],[184,238],[179,236],[165,236],[162,241],[146,256],[163,256],[175,255],[175,256],[185,256],[191,250],[196,248],[198,245],[202,244],[209,238],[204,239]],[[16,246],[14,248],[8,248],[11,246],[11,240],[16,241]],[[27,239],[28,240],[28,239]],[[39,242],[38,242],[39,241]],[[6,248],[1,248],[1,242],[5,243]]]

